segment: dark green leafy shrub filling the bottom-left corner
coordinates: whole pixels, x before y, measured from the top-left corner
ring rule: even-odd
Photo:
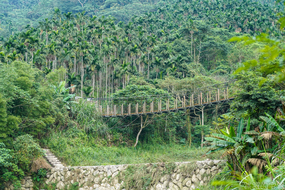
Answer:
[[[5,148],[0,142],[0,187],[3,188],[4,182],[11,182],[15,189],[21,189],[21,179],[24,172],[17,166],[13,150]]]

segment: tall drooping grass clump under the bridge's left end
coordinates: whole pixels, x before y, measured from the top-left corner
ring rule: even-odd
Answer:
[[[72,122],[72,127],[78,129],[83,128],[86,132],[98,131],[101,136],[105,135],[107,125],[104,124],[101,118],[101,113],[97,109],[95,103],[86,102],[80,99],[78,103],[71,106],[70,113],[75,122]]]

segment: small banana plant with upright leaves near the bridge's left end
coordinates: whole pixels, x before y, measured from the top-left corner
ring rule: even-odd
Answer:
[[[76,85],[75,85],[76,86]],[[65,88],[65,81],[61,81],[57,86],[53,85],[54,87],[54,91],[57,95],[61,95],[62,96],[62,101],[64,102],[64,105],[66,106],[67,109],[70,109],[69,104],[70,103],[77,103],[75,101],[71,101],[71,99],[76,95],[76,94],[70,94],[69,90],[74,87],[74,86],[70,86],[68,88]]]

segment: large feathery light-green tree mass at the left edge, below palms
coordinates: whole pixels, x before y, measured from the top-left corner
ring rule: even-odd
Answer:
[[[0,68],[1,113],[4,116],[7,114],[7,127],[0,132],[1,136],[6,134],[5,138],[1,138],[2,142],[5,140],[11,146],[11,138],[23,133],[40,137],[50,126],[64,122],[66,109],[64,102],[58,101],[62,101],[62,96],[56,95],[54,89],[44,81],[40,70],[19,61],[13,62],[13,68],[7,68],[5,64],[0,64]],[[28,85],[19,83],[23,77],[28,78]],[[59,118],[59,115],[62,117]]]

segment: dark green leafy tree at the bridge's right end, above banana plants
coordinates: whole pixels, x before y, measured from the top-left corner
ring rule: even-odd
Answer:
[[[276,84],[269,76],[257,71],[237,73],[235,97],[231,103],[232,114],[237,117],[251,117],[252,124],[258,125],[258,117],[264,112],[274,115],[281,106],[280,96],[284,94],[282,85]],[[262,84],[260,85],[260,82]]]

